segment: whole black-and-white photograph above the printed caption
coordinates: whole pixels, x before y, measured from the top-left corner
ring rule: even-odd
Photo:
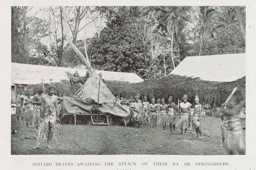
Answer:
[[[245,6],[12,6],[11,155],[246,155]]]

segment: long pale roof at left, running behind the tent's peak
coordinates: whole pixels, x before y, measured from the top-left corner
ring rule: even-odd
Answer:
[[[12,84],[40,84],[61,82],[61,80],[69,80],[68,73],[74,74],[78,71],[80,76],[86,75],[85,69],[66,68],[56,66],[41,66],[32,64],[11,63],[11,83]],[[132,72],[109,72],[96,70],[97,73],[102,72],[104,80],[116,80],[120,82],[137,83],[143,82],[137,74]]]

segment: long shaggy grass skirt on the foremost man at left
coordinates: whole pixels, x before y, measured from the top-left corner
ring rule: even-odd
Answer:
[[[37,135],[37,142],[40,144],[43,141],[57,141],[61,126],[56,122],[56,114],[49,114],[45,116],[39,126],[39,132]]]

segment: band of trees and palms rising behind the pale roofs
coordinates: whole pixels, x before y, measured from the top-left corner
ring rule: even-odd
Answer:
[[[245,7],[18,6],[11,7],[11,61],[81,64],[66,45],[64,19],[70,41],[94,68],[145,80],[168,75],[186,56],[245,52]]]

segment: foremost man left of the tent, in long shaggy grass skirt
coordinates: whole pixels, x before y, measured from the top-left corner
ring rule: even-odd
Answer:
[[[50,141],[57,140],[59,135],[59,110],[57,104],[57,96],[53,95],[55,87],[49,85],[48,94],[43,97],[41,104],[41,124],[37,135],[37,145],[33,149],[40,147],[43,141],[47,141],[47,147],[51,149],[49,145]]]

